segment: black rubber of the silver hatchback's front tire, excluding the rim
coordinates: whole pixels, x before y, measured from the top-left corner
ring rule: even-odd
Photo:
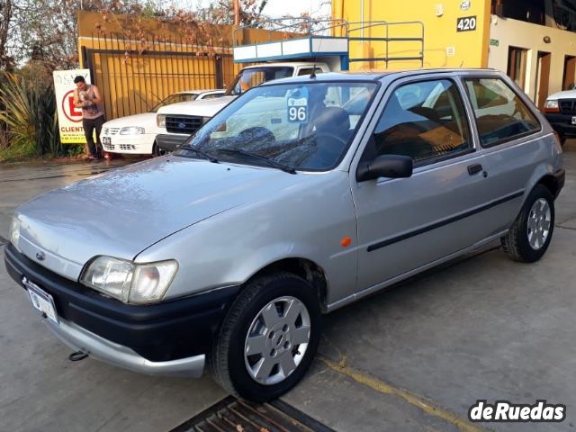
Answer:
[[[247,335],[260,311],[275,300],[293,297],[302,302],[310,316],[310,339],[300,364],[279,383],[262,384],[253,378],[245,363]],[[280,317],[282,311],[278,311]],[[248,401],[271,401],[296,385],[311,365],[320,341],[320,301],[316,291],[302,278],[290,273],[263,275],[249,282],[232,304],[214,342],[209,365],[211,373],[225,390]],[[263,333],[268,336],[268,333]],[[272,335],[269,335],[272,337]],[[295,345],[291,352],[300,352]],[[275,366],[275,367],[280,367]],[[273,369],[273,371],[278,369]]]

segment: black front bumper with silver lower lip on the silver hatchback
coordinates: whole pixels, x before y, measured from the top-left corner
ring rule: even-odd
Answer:
[[[4,249],[8,274],[23,285],[25,276],[49,293],[59,324],[47,320],[58,338],[76,350],[112,365],[146,374],[202,374],[238,286],[152,305],[130,305],[106,298],[56,275],[14,246]]]

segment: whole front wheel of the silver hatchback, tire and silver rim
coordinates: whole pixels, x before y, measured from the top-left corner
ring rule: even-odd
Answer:
[[[320,302],[302,278],[278,273],[247,284],[214,344],[214,378],[248,401],[271,401],[296,385],[318,348]]]

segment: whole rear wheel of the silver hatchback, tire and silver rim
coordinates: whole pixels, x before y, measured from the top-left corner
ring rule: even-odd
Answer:
[[[502,238],[502,246],[515,261],[534,263],[544,256],[553,232],[554,197],[547,187],[536,184],[508,234]]]

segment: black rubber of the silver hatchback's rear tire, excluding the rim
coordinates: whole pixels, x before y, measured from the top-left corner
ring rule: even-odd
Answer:
[[[537,249],[530,246],[528,240],[528,219],[532,206],[539,199],[545,199],[550,206],[550,229],[542,247]],[[550,190],[543,184],[536,184],[534,189],[528,194],[527,200],[518,214],[518,218],[510,228],[508,234],[504,236],[502,246],[504,251],[515,261],[522,263],[534,263],[544,256],[546,249],[550,245],[552,234],[554,232],[554,197]]]

